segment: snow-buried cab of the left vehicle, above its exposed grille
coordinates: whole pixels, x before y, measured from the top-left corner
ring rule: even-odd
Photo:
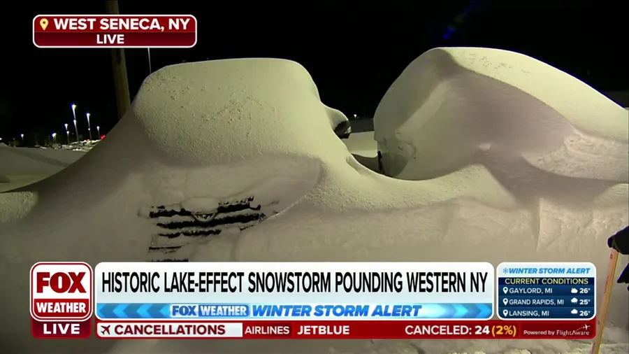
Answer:
[[[321,104],[303,66],[280,59],[168,66],[147,78],[133,107],[156,148],[193,164],[329,155],[342,147],[331,127],[347,121]]]

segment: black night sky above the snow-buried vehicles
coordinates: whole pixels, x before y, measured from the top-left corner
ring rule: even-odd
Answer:
[[[252,8],[245,2],[226,7],[212,1],[120,1],[120,12],[191,13],[198,19],[196,47],[151,50],[153,70],[204,59],[293,59],[310,71],[324,103],[348,116],[372,115],[407,64],[430,48],[447,45],[515,50],[600,91],[629,88],[628,1],[478,0],[454,34],[444,39],[448,24],[454,24],[471,2],[434,1],[430,7],[426,0],[361,6],[297,1],[288,8]],[[29,140],[36,132],[61,136],[63,123],[72,120],[73,102],[83,134],[85,111],[92,113],[92,125],[100,125],[101,132],[115,124],[110,50],[38,49],[32,44],[35,15],[104,13],[103,1],[71,3],[36,4],[5,18],[4,35],[15,36],[8,38],[0,55],[5,68],[0,80],[0,137],[24,133]],[[126,50],[126,64],[133,97],[148,74],[146,50]]]

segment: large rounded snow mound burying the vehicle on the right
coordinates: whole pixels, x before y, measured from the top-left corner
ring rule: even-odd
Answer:
[[[494,174],[629,182],[627,112],[516,52],[425,52],[386,92],[374,125],[386,174],[397,178],[434,178],[481,163]]]

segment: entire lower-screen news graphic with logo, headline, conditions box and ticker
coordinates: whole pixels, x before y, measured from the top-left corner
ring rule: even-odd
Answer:
[[[594,282],[589,263],[40,262],[31,332],[85,338],[95,323],[102,339],[590,339]]]

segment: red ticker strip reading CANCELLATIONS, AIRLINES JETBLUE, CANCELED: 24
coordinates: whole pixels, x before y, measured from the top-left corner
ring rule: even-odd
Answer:
[[[592,339],[591,321],[101,321],[101,339]]]

